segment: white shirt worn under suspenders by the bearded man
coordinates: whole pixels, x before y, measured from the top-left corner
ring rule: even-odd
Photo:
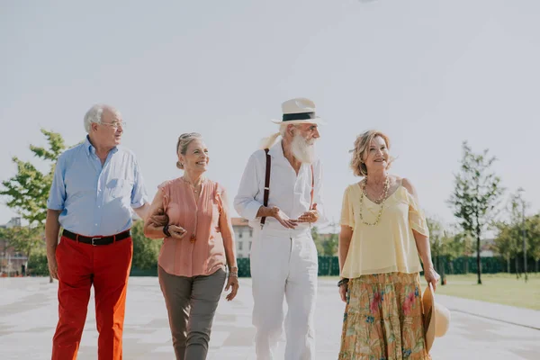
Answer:
[[[311,165],[302,164],[298,175],[284,157],[282,142],[278,141],[270,148],[269,155],[272,157],[270,169],[270,193],[268,207],[277,206],[291,219],[298,219],[304,212],[310,211],[311,203]],[[263,206],[265,195],[266,153],[265,150],[257,150],[249,160],[242,175],[238,193],[234,198],[234,208],[244,219],[249,220],[252,228],[260,227],[260,218],[257,211]],[[317,204],[320,213],[318,223],[326,222],[322,203],[322,168],[320,160],[313,163],[313,178],[315,181],[313,203]],[[267,217],[265,229],[285,229],[274,218]],[[297,231],[310,229],[310,223],[299,223]]]

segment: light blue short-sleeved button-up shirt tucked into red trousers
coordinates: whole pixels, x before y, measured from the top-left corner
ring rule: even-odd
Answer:
[[[58,157],[47,207],[76,234],[107,236],[130,229],[133,211],[148,202],[139,163],[127,148],[112,148],[101,164],[88,137]]]

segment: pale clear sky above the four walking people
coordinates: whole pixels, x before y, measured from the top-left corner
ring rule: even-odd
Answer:
[[[503,185],[540,209],[537,0],[8,0],[0,46],[3,180],[13,156],[44,144],[40,128],[76,144],[86,110],[110,103],[150,198],[180,175],[186,131],[202,133],[208,176],[232,197],[281,103],[308,97],[328,122],[318,153],[330,218],[357,181],[348,150],[373,128],[392,139],[392,172],[416,185],[428,214],[454,220],[446,200],[465,139],[489,148]],[[12,216],[0,205],[0,223]]]

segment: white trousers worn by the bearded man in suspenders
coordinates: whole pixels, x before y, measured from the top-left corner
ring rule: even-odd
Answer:
[[[284,299],[288,305],[284,358],[314,359],[319,261],[310,231],[256,229],[250,258],[257,360],[275,358],[284,324]]]

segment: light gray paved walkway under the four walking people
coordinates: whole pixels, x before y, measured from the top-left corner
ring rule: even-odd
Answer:
[[[344,304],[334,281],[320,279],[317,359],[337,359]],[[251,326],[251,281],[240,279],[233,302],[220,302],[209,360],[255,359]],[[0,279],[0,359],[47,359],[58,320],[57,283],[46,278]],[[540,359],[540,311],[440,295],[452,311],[445,338],[436,340],[435,360]],[[96,359],[94,306],[88,309],[78,359]],[[283,344],[278,359],[283,359]],[[132,277],[124,330],[124,359],[174,359],[166,309],[154,277]]]

